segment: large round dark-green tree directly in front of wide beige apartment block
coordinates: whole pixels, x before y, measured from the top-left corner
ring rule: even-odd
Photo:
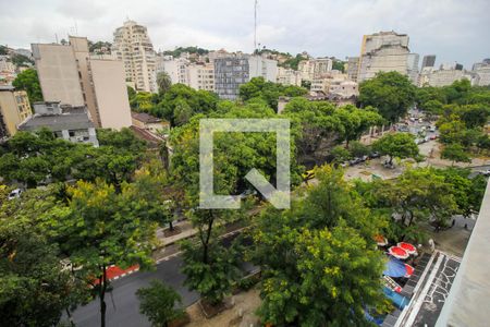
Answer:
[[[404,117],[415,102],[416,87],[407,76],[397,72],[379,72],[375,78],[359,85],[359,102],[372,106],[388,121],[394,123]]]

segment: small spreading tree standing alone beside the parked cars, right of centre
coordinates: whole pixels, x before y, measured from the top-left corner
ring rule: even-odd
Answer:
[[[417,158],[418,146],[415,144],[414,136],[408,133],[385,134],[372,144],[372,149],[381,155],[390,157],[390,165],[393,158]]]

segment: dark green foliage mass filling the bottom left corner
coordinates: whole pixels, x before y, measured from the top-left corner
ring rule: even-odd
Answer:
[[[62,312],[89,299],[86,284],[63,266],[45,221],[65,215],[48,190],[8,199],[0,185],[0,311],[5,326],[53,326]]]

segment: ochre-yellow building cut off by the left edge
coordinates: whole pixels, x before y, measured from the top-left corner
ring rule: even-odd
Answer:
[[[0,140],[15,135],[19,124],[32,114],[25,90],[0,86]]]

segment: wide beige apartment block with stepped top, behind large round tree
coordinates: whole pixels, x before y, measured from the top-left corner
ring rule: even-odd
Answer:
[[[380,32],[363,37],[357,82],[376,76],[378,72],[395,71],[407,75],[408,36]]]

